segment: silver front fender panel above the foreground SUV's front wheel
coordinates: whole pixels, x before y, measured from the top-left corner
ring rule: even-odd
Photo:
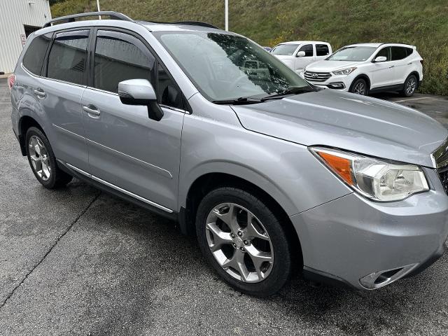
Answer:
[[[245,130],[239,123],[188,115],[182,132],[179,209],[186,207],[193,183],[210,173],[255,184],[288,216],[351,193],[306,146]]]

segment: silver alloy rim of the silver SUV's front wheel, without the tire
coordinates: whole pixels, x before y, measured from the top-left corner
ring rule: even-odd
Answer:
[[[205,227],[211,253],[233,278],[257,283],[269,276],[274,249],[267,230],[248,209],[222,203],[207,216]]]

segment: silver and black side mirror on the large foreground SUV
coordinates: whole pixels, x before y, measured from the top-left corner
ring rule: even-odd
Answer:
[[[147,79],[128,79],[118,83],[118,97],[125,105],[148,106],[150,119],[159,121],[163,117],[154,87]]]

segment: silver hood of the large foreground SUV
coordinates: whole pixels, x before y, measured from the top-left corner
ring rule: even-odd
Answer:
[[[433,167],[430,153],[448,135],[413,109],[330,89],[232,108],[253,132],[426,167]]]

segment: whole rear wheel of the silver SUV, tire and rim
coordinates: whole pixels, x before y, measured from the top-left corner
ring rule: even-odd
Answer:
[[[48,189],[66,186],[73,176],[57,167],[50,142],[37,127],[29,127],[25,136],[29,166],[42,186]]]

